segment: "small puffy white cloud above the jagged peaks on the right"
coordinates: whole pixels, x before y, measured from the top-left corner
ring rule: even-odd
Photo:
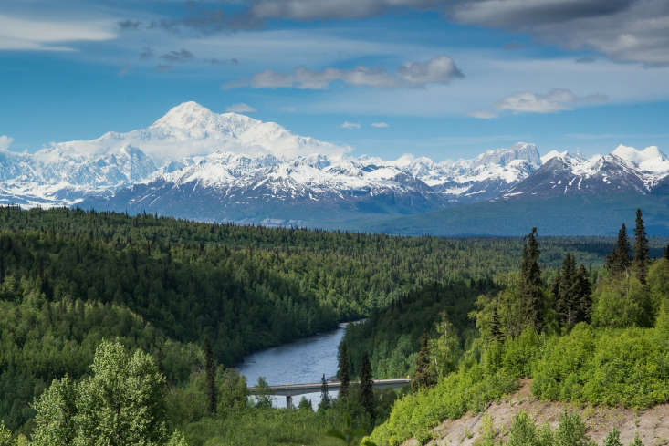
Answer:
[[[552,113],[574,109],[580,105],[599,104],[606,100],[603,95],[579,97],[569,89],[553,88],[546,94],[524,91],[507,96],[507,98],[497,102],[496,108],[515,113]]]

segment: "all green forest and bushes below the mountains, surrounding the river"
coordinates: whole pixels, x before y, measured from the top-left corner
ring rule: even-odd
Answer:
[[[521,378],[542,399],[664,402],[667,241],[648,240],[641,212],[628,236],[394,237],[0,208],[0,445],[427,441],[435,420]],[[317,412],[247,398],[244,355],[361,318],[338,373],[360,385]],[[628,362],[608,369],[622,350]],[[413,388],[399,394],[365,384],[405,375]]]

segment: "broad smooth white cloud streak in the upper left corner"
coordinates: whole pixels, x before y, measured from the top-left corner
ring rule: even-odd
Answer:
[[[116,38],[111,20],[58,21],[0,15],[0,49],[72,51],[68,42]]]

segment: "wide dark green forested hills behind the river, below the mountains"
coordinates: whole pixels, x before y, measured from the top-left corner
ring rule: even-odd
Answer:
[[[545,239],[542,259],[575,252],[597,265],[612,243]],[[85,374],[104,337],[151,352],[179,383],[205,339],[230,367],[428,286],[479,292],[517,267],[520,246],[0,208],[0,419],[29,420],[30,400],[51,379]]]

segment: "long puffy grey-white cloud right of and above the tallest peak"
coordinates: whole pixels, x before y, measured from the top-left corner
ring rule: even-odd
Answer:
[[[251,78],[225,84],[224,88],[325,89],[337,80],[356,87],[424,87],[428,84],[446,84],[454,78],[462,77],[462,72],[451,57],[439,56],[427,62],[406,63],[393,74],[383,68],[363,66],[350,69],[328,67],[319,71],[297,67],[289,73],[277,73],[267,69]]]

